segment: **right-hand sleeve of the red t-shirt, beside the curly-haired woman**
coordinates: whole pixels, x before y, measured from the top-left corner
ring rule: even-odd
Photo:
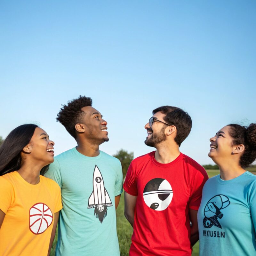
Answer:
[[[189,209],[198,210],[202,199],[202,190],[206,180],[208,180],[208,175],[202,167],[197,170],[195,178],[193,179],[191,196],[188,204]]]

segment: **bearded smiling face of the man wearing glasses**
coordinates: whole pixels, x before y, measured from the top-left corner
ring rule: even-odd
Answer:
[[[147,130],[148,136],[144,142],[147,146],[156,147],[157,144],[166,140],[166,135],[164,133],[166,124],[163,124],[157,121],[159,120],[165,123],[164,116],[165,115],[163,113],[157,112],[153,116],[154,117],[153,124],[151,126],[149,125],[149,123],[145,125],[145,129]]]

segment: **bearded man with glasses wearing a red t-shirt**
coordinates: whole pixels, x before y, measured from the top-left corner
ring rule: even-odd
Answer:
[[[156,151],[134,159],[124,181],[130,256],[188,256],[198,241],[196,215],[208,175],[179,150],[191,126],[188,113],[171,106],[153,110],[145,125],[145,144]]]

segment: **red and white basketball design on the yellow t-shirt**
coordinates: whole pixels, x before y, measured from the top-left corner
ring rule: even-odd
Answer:
[[[42,234],[52,224],[52,219],[52,211],[46,204],[34,204],[29,210],[29,229],[35,235]]]

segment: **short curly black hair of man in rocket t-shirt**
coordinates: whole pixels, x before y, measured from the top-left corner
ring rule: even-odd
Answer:
[[[77,99],[68,101],[67,105],[62,105],[62,108],[57,115],[56,120],[59,121],[75,139],[75,125],[81,123],[81,119],[85,115],[81,108],[87,106],[92,106],[92,99],[90,97],[80,95]]]

